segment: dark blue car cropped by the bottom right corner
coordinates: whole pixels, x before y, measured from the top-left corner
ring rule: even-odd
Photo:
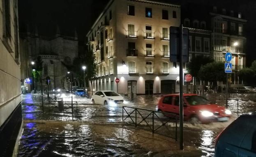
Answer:
[[[244,114],[215,140],[215,157],[256,157],[256,112]]]

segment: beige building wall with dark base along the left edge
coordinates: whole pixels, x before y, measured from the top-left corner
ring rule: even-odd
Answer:
[[[22,132],[18,3],[0,4],[0,156],[10,157],[17,153],[16,139]]]

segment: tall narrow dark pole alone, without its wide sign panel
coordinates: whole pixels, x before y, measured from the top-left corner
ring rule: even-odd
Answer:
[[[180,150],[183,150],[183,26],[180,25]]]

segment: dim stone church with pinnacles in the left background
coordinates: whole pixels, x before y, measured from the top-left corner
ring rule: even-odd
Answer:
[[[43,90],[47,89],[46,77],[51,78],[50,90],[57,87],[69,89],[70,84],[66,82],[67,66],[71,65],[74,58],[78,56],[78,38],[76,30],[74,36],[64,36],[59,27],[53,36],[40,36],[35,27],[27,32],[20,32],[20,51],[23,63],[21,63],[22,80],[29,80],[27,89],[40,89],[39,82],[35,83],[32,76],[32,61],[36,61],[41,56],[43,61],[42,80]],[[34,85],[35,84],[35,85]]]

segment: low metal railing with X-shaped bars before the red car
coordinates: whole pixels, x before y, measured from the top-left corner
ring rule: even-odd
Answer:
[[[124,114],[127,114],[127,116],[124,117]],[[159,114],[161,116],[164,116],[164,118],[160,118]],[[130,119],[131,121],[127,123],[135,126],[136,128],[148,130],[151,131],[153,134],[156,133],[159,135],[170,137],[177,141],[177,114],[123,106],[122,121],[125,121],[126,119]],[[171,123],[171,121],[174,121],[174,127],[167,126],[167,124]],[[142,124],[143,122],[145,122],[144,127]],[[163,130],[164,128],[165,130]],[[175,137],[170,136],[172,135],[173,131],[175,131]]]

